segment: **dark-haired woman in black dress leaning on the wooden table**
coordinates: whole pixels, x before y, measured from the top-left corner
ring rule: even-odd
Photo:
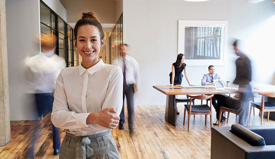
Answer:
[[[178,54],[177,61],[172,64],[172,72],[170,73],[170,84],[168,86],[174,86],[182,84],[182,71],[184,70],[185,78],[190,86],[195,86],[194,84],[189,83],[186,64],[184,63],[185,56],[184,54]],[[178,108],[176,107],[176,113],[179,114]]]

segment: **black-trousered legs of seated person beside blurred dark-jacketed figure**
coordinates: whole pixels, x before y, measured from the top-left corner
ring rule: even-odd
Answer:
[[[235,110],[240,109],[240,94],[235,94],[234,97],[232,97],[232,98],[225,95],[225,94],[223,94],[223,95],[218,94],[217,99],[218,99],[218,103],[217,103],[217,106],[216,106],[217,121],[213,125],[218,125],[218,119],[219,119],[220,107],[221,106],[231,108],[231,109],[235,109]],[[221,119],[221,122],[223,122],[223,119]]]

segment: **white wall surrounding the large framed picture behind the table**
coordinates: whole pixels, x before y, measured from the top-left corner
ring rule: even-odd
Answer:
[[[178,20],[227,20],[227,65],[217,66],[224,80],[235,78],[235,60],[230,37],[243,40],[244,52],[252,62],[255,83],[275,84],[275,5],[273,0],[127,0],[123,1],[123,42],[140,64],[141,87],[136,105],[165,104],[164,94],[153,85],[169,84],[171,64],[178,51]],[[211,64],[209,64],[211,65]],[[199,85],[208,66],[188,66],[189,81]],[[187,85],[186,80],[182,82]]]

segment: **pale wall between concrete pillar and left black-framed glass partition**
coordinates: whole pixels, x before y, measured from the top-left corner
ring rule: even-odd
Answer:
[[[58,0],[48,2],[54,1]],[[40,0],[6,0],[6,22],[10,120],[34,120],[34,98],[26,93],[25,59],[40,53],[34,38],[40,33]]]

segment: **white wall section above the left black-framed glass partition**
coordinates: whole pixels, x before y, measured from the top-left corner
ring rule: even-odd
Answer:
[[[65,22],[67,22],[67,11],[62,6],[59,0],[42,0],[50,9],[52,9],[59,17],[61,17]]]

